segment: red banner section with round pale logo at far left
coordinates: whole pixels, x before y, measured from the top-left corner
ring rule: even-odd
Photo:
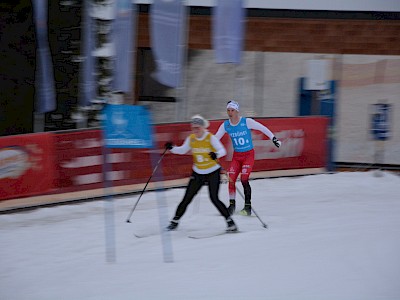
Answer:
[[[49,133],[0,138],[0,200],[49,192],[54,180]]]

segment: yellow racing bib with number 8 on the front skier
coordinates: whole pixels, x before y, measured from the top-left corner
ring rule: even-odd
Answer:
[[[196,139],[193,133],[189,137],[194,165],[201,170],[216,166],[217,162],[208,155],[210,152],[215,152],[214,147],[211,145],[211,133],[208,133],[203,140]]]

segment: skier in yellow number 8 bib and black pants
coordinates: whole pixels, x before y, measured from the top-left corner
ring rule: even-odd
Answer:
[[[208,126],[209,122],[207,120],[200,115],[195,115],[191,119],[193,133],[185,139],[182,146],[173,146],[171,142],[165,144],[165,147],[171,153],[186,154],[192,150],[193,155],[193,173],[186,188],[185,196],[179,203],[175,216],[171,220],[167,230],[176,230],[186,208],[192,202],[200,188],[206,183],[208,183],[211,202],[227,222],[226,231],[235,232],[238,230],[235,222],[229,215],[227,207],[218,198],[221,170],[218,158],[224,156],[226,150],[222,143],[207,131]]]

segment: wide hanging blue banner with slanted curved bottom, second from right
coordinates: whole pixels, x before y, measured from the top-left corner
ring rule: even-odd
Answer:
[[[157,65],[153,77],[169,87],[182,81],[186,7],[182,0],[154,0],[150,11],[150,42]]]

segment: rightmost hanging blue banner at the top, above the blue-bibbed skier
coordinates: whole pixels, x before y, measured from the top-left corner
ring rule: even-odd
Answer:
[[[243,0],[217,0],[213,10],[213,48],[217,63],[240,64],[246,10]]]

